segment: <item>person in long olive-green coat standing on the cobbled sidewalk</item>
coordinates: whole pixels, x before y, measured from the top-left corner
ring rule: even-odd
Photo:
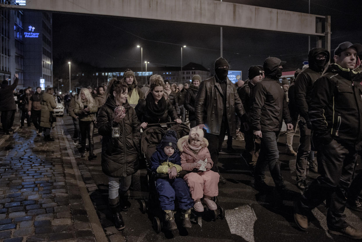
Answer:
[[[56,102],[53,93],[53,88],[49,87],[43,94],[42,101],[40,102],[40,104],[42,105],[40,126],[43,127],[45,141],[54,141],[53,138],[50,138],[51,123],[49,121],[50,112],[53,111],[53,108],[56,108]]]

